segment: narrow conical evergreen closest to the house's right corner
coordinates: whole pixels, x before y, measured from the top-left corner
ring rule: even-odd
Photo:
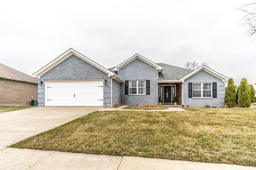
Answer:
[[[226,107],[236,107],[236,86],[232,78],[228,79],[224,102]]]

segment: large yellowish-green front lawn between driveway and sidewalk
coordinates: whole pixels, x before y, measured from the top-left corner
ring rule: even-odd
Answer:
[[[256,166],[256,108],[101,111],[11,147]]]

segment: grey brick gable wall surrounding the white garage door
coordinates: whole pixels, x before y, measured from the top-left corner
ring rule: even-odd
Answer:
[[[110,98],[110,77],[108,74],[97,69],[93,65],[80,59],[76,55],[71,55],[54,68],[50,69],[38,79],[43,85],[38,85],[38,106],[44,106],[44,85],[46,80],[82,80],[82,79],[103,79],[107,80],[107,85],[103,85],[103,105],[111,107]]]

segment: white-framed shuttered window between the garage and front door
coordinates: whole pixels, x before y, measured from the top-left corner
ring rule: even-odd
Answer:
[[[146,95],[146,80],[129,81],[129,95]]]

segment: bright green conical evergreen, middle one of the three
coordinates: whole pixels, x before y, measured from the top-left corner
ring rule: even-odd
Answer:
[[[242,79],[238,90],[238,106],[250,107],[251,106],[251,91],[250,86],[246,79]]]

